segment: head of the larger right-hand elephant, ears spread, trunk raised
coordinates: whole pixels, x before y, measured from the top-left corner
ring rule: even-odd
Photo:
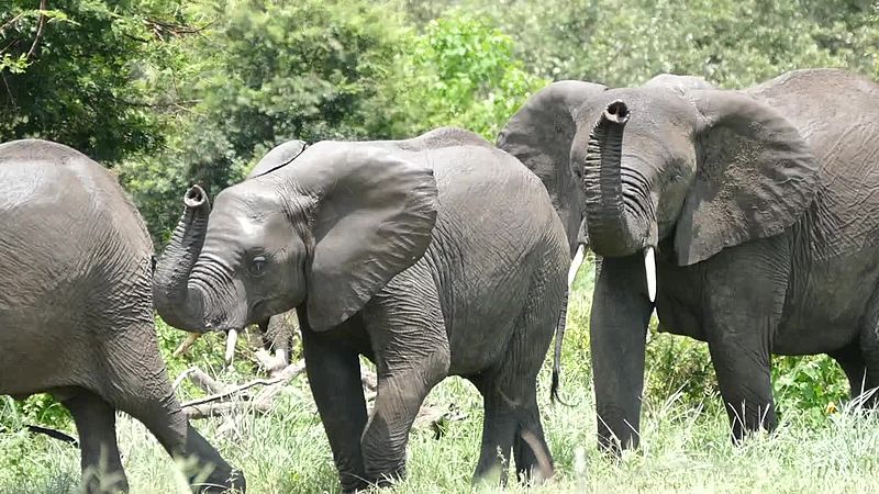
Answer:
[[[652,260],[669,237],[679,266],[780,233],[817,181],[816,161],[785,115],[694,77],[620,89],[552,83],[513,116],[499,146],[550,189],[571,251],[588,242],[600,256],[644,251]],[[649,283],[655,267],[647,271]]]

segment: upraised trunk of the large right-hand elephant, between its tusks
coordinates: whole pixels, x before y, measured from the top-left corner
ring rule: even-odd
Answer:
[[[596,122],[587,146],[583,211],[589,246],[600,256],[628,256],[652,244],[655,220],[648,180],[622,164],[628,116],[625,103],[610,103]]]

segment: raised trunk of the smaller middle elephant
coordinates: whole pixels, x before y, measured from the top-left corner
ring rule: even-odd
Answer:
[[[153,303],[166,323],[179,329],[204,332],[204,295],[189,282],[192,267],[204,244],[211,205],[198,187],[183,198],[186,210],[171,242],[162,254],[153,278]]]

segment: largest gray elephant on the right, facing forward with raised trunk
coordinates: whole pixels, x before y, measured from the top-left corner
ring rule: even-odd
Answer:
[[[744,91],[674,76],[557,82],[513,117],[512,128],[539,128],[532,160],[582,186],[602,257],[591,315],[601,445],[637,445],[654,305],[660,330],[708,343],[735,439],[776,426],[771,353],[830,355],[853,395],[879,385],[877,122],[879,87],[830,69]]]

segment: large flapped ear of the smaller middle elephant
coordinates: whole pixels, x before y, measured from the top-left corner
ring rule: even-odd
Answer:
[[[316,205],[305,307],[311,328],[325,330],[424,255],[437,191],[433,168],[413,154],[365,143],[320,143],[310,151],[303,158],[316,187],[304,190]]]

